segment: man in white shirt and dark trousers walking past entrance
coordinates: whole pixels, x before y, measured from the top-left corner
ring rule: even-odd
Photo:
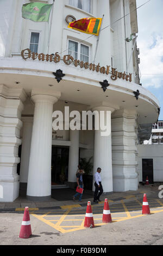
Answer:
[[[97,172],[95,174],[95,193],[94,193],[94,200],[93,202],[98,203],[98,201],[100,202],[101,200],[99,199],[99,197],[101,196],[101,194],[103,193],[103,187],[102,187],[102,183],[101,183],[101,168],[97,168]],[[99,191],[99,193],[98,193]]]

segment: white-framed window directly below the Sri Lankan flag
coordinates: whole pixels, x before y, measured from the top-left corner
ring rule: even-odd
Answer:
[[[68,40],[68,54],[70,54],[74,59],[89,62],[89,46],[84,44]]]

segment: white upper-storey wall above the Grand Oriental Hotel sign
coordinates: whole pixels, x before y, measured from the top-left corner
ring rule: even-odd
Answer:
[[[49,53],[62,52],[66,55],[67,39],[85,40],[84,44],[90,46],[90,62],[95,56],[97,37],[89,34],[80,33],[73,29],[67,28],[65,18],[67,15],[73,15],[76,19],[83,17],[102,17],[104,14],[103,28],[110,25],[111,22],[120,19],[124,15],[123,0],[114,0],[110,4],[109,0],[93,0],[91,14],[86,13],[78,8],[71,7],[68,0],[55,0],[54,8],[47,22],[33,22],[22,18],[22,4],[29,3],[28,0],[1,0],[0,1],[0,56],[11,56],[11,53],[21,52],[22,49],[29,47],[30,32],[40,32],[40,42],[38,52],[47,53],[49,38]],[[52,3],[52,0],[47,1]],[[125,0],[126,13],[129,11],[128,0]],[[111,15],[109,15],[111,11]],[[114,25],[114,32],[110,27],[101,32],[99,40],[96,64],[101,66],[111,65],[111,56],[114,57],[114,67],[124,72],[126,70],[126,47],[124,34],[124,20],[120,20]],[[48,34],[49,31],[49,34]],[[127,37],[130,35],[130,18],[126,18]],[[131,43],[127,45],[128,56]],[[107,56],[107,57],[106,57]],[[131,61],[132,63],[132,61]],[[129,70],[132,72],[132,70]]]

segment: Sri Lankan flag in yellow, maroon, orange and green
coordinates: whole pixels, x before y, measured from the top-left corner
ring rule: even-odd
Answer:
[[[86,34],[99,34],[102,18],[84,18],[70,22],[68,27]]]

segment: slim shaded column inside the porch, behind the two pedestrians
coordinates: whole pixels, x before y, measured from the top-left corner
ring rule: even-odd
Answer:
[[[71,146],[68,160],[68,182],[76,182],[76,172],[79,164],[79,130],[70,130]],[[71,186],[71,184],[70,184]]]

